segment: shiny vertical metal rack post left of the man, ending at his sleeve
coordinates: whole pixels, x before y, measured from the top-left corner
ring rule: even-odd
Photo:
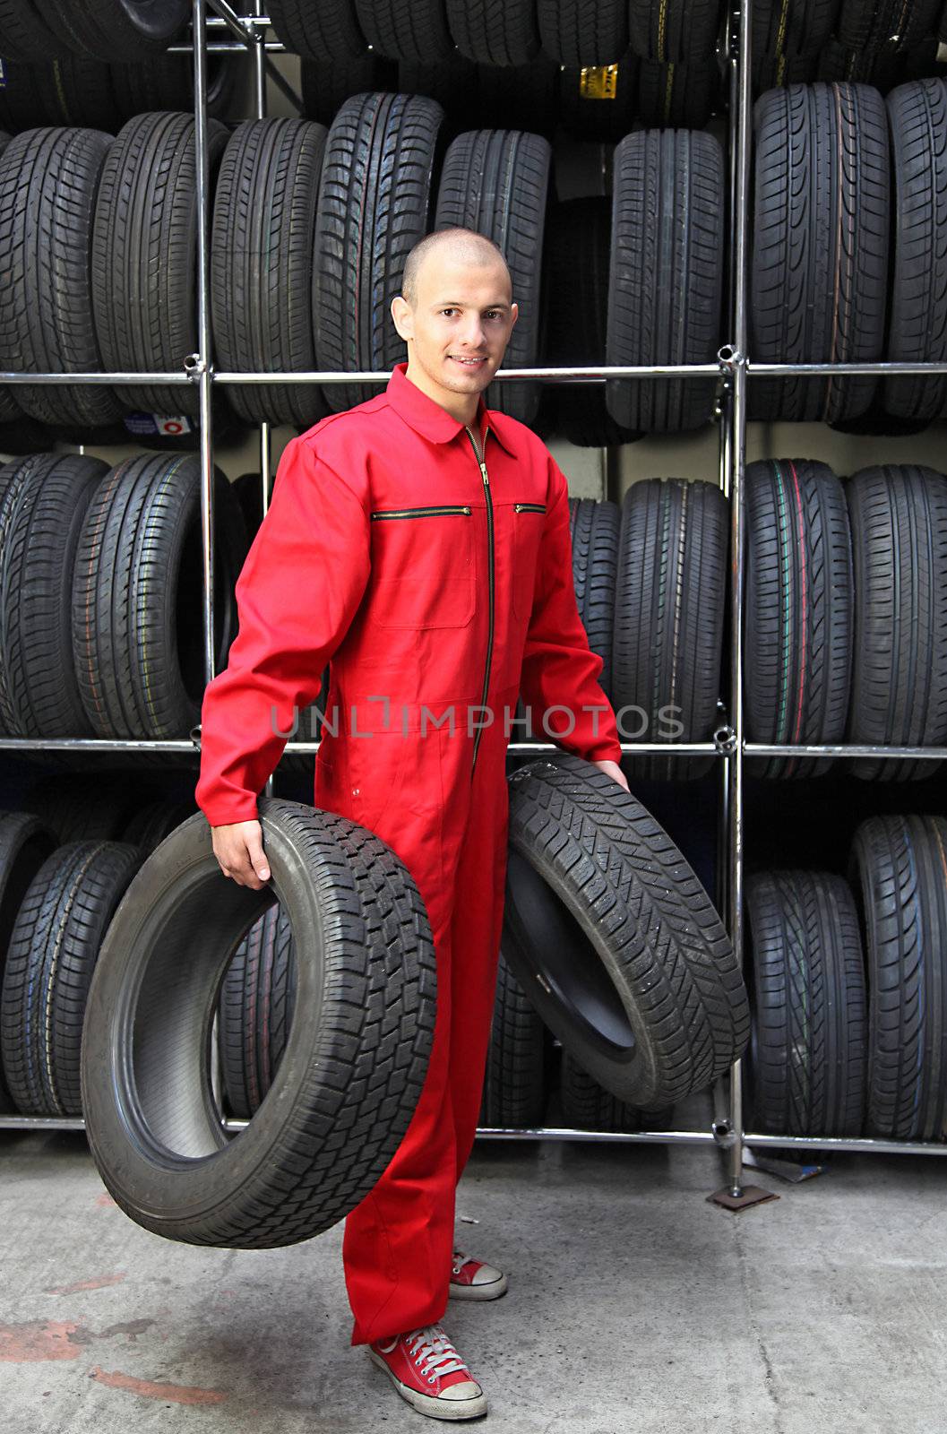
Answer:
[[[193,142],[198,162],[198,371],[201,403],[201,543],[203,551],[203,671],[215,677],[213,651],[213,433],[211,432],[211,287],[208,247],[208,52],[206,3],[192,0]]]

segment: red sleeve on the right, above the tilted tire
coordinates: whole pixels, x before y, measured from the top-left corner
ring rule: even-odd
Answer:
[[[586,761],[620,761],[622,746],[615,711],[599,687],[605,664],[589,647],[576,602],[569,485],[552,456],[549,465],[549,509],[523,650],[520,695],[532,708],[532,726],[537,739],[544,740],[549,733],[552,741]],[[566,711],[549,711],[556,704]],[[549,713],[546,723],[544,713]]]

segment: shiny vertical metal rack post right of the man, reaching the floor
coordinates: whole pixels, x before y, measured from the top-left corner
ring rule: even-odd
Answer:
[[[731,135],[736,141],[732,162],[736,166],[734,214],[735,274],[734,274],[734,486],[731,492],[731,724],[736,734],[732,756],[725,759],[729,773],[731,799],[731,938],[736,958],[744,965],[744,472],[746,465],[746,250],[749,231],[749,62],[751,62],[751,3],[739,3],[739,72],[736,113],[731,115]],[[731,1071],[731,1124],[735,1140],[729,1152],[731,1195],[742,1195],[744,1172],[744,1077],[742,1063]]]

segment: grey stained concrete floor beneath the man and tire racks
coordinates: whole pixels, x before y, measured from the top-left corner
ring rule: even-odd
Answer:
[[[749,1174],[749,1173],[748,1173]],[[741,1215],[693,1147],[487,1144],[460,1242],[497,1304],[444,1319],[510,1434],[947,1431],[947,1163],[837,1156]],[[431,1430],[350,1349],[341,1226],[284,1250],[173,1245],[85,1139],[0,1133],[3,1434]]]

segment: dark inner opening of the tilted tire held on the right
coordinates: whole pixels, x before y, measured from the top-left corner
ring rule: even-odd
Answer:
[[[507,938],[527,968],[542,975],[542,994],[549,999],[552,992],[569,1025],[605,1055],[633,1055],[632,1025],[600,954],[564,902],[514,850],[507,859],[506,919]]]

